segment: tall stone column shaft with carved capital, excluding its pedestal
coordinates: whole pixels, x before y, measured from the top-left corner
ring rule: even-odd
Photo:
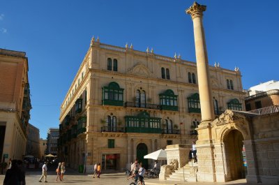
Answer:
[[[202,12],[206,6],[193,3],[193,6],[186,10],[190,14],[194,25],[195,51],[197,60],[197,78],[199,84],[199,99],[202,111],[202,121],[214,119],[213,99],[211,94],[211,82],[209,78],[209,61],[206,52],[204,38],[204,27],[202,25]]]

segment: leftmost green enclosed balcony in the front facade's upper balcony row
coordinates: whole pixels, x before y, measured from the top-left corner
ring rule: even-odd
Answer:
[[[123,90],[116,82],[103,87],[103,105],[123,106]]]

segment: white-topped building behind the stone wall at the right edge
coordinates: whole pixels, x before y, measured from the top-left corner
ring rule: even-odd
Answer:
[[[255,110],[255,113],[261,111],[259,110],[261,108],[279,106],[279,82],[271,80],[250,87],[248,96],[245,98],[245,105],[247,111]]]

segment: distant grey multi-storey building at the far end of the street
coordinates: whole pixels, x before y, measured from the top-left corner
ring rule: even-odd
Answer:
[[[49,128],[47,131],[47,154],[57,155],[57,140],[59,128]]]

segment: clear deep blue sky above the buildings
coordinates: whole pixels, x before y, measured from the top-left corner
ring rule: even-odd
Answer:
[[[279,1],[199,0],[209,65],[239,67],[243,89],[279,80]],[[59,127],[60,106],[89,49],[101,43],[195,62],[189,0],[0,0],[0,48],[27,53],[30,124]]]

